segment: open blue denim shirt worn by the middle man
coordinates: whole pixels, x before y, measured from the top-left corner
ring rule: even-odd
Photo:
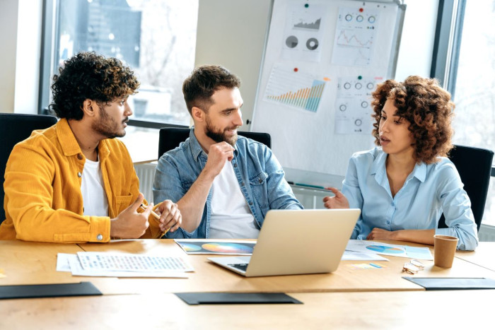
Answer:
[[[153,182],[153,198],[156,203],[170,199],[177,203],[196,181],[206,165],[208,155],[203,151],[194,136],[194,128],[189,139],[164,153],[158,160]],[[262,226],[264,216],[270,209],[301,209],[303,206],[294,196],[286,182],[284,170],[272,151],[262,143],[238,136],[231,160],[240,190],[255,217]],[[228,203],[228,201],[225,201]],[[179,228],[168,232],[167,238],[208,238],[211,216],[211,189],[206,198],[203,216],[198,228],[193,232]]]

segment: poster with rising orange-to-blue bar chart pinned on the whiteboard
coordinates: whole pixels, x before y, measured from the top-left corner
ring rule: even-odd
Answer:
[[[317,79],[311,73],[275,65],[270,73],[263,100],[316,113],[326,83],[327,78]]]

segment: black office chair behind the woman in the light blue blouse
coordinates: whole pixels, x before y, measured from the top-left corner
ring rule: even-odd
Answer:
[[[448,158],[458,169],[464,190],[470,197],[471,210],[479,231],[482,225],[484,204],[487,201],[494,152],[482,148],[454,146]],[[438,228],[447,228],[443,214],[438,221]]]

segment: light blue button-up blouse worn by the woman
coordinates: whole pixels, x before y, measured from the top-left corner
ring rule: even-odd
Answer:
[[[455,165],[445,157],[438,163],[416,164],[404,186],[392,198],[385,170],[387,154],[381,147],[354,153],[342,193],[351,208],[361,208],[352,239],[366,240],[373,228],[385,230],[433,229],[436,234],[459,237],[458,249],[478,244],[471,201],[462,189]],[[437,228],[442,213],[448,228]]]

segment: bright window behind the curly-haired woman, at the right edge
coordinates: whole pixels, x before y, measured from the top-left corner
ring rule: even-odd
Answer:
[[[435,68],[434,62],[432,75],[441,78],[453,95],[453,141],[495,151],[495,0],[440,2],[446,16],[441,20],[455,25],[448,30],[452,36],[450,49],[443,50],[445,71],[435,71],[440,65]],[[446,15],[449,12],[454,20]],[[441,52],[438,49],[438,54]],[[435,57],[433,61],[436,59],[440,61]],[[495,177],[491,177],[483,223],[495,225]]]

